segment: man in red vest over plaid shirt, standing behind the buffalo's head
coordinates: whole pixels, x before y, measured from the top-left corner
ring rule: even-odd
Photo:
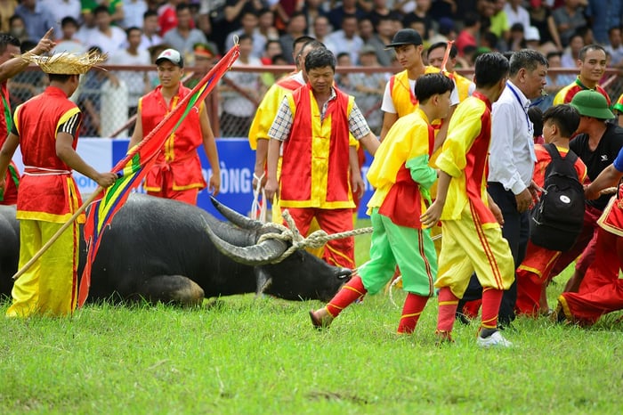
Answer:
[[[266,197],[279,191],[280,207],[288,209],[303,235],[314,217],[329,234],[352,231],[349,133],[372,155],[379,142],[354,98],[334,86],[333,53],[312,50],[304,65],[308,83],[286,95],[269,131]],[[353,238],[329,241],[323,257],[328,264],[354,267]]]

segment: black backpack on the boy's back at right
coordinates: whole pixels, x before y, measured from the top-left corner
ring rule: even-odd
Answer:
[[[531,212],[530,240],[539,247],[567,251],[584,223],[584,186],[574,167],[578,156],[569,151],[562,159],[554,144],[544,147],[552,161],[546,167],[541,199]]]

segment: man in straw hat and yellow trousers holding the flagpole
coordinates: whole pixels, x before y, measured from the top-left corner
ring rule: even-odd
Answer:
[[[24,162],[24,175],[17,199],[20,220],[20,269],[50,240],[81,204],[71,170],[93,179],[102,187],[115,183],[114,173],[99,173],[76,152],[82,114],[69,101],[84,74],[104,61],[99,54],[76,56],[61,53],[40,58],[32,53],[21,55],[36,63],[50,78],[43,94],[20,105],[13,116],[11,133],[0,150],[0,190],[4,175],[18,145]],[[77,222],[72,232],[63,232],[58,240],[15,281],[13,302],[8,317],[31,314],[68,315],[77,300]]]

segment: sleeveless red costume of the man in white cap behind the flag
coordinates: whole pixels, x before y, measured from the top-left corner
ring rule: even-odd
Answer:
[[[144,135],[158,126],[166,114],[190,93],[189,88],[180,84],[177,95],[171,99],[170,105],[166,105],[161,89],[162,86],[158,86],[139,101]],[[145,177],[143,187],[149,194],[197,204],[198,191],[206,187],[197,152],[203,144],[199,113],[205,110],[204,102],[190,110],[182,124],[166,140],[155,166]]]

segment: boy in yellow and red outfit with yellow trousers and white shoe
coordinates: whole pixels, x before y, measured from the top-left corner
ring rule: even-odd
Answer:
[[[436,335],[452,341],[451,331],[459,298],[475,271],[483,287],[482,321],[477,344],[512,346],[497,330],[498,310],[504,289],[514,281],[514,262],[502,237],[502,213],[487,194],[491,141],[491,103],[506,86],[508,61],[500,53],[476,59],[476,91],[449,122],[448,138],[437,159],[437,199],[421,217],[425,226],[441,220],[443,238],[439,256],[439,317]]]

